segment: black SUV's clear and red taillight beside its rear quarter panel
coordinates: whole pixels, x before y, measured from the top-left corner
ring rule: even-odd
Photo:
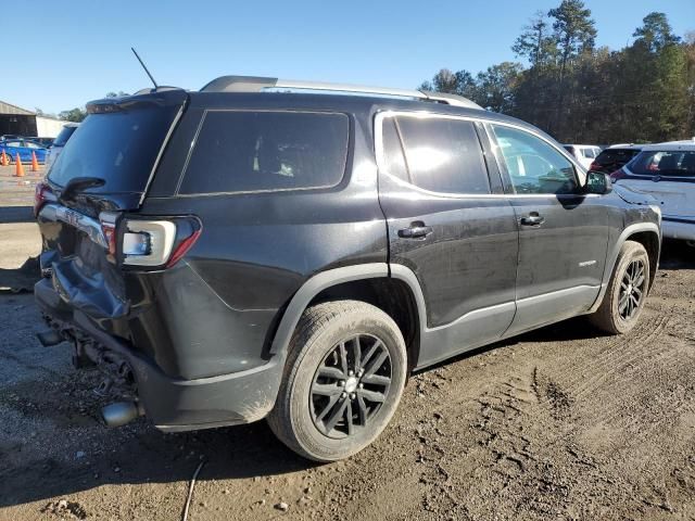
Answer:
[[[172,267],[193,246],[202,226],[192,217],[126,219],[121,234],[125,266]]]

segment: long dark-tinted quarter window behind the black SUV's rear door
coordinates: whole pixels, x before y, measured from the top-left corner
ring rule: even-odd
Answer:
[[[345,114],[210,111],[179,193],[333,187],[345,170],[349,135]]]

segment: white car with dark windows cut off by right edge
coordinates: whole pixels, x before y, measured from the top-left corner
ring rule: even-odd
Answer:
[[[656,198],[664,237],[695,245],[695,138],[644,145],[610,178]]]

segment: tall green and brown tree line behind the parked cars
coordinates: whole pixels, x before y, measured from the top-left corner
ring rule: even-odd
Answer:
[[[673,34],[653,12],[618,51],[596,47],[581,0],[536,12],[502,62],[472,75],[439,71],[419,88],[464,96],[525,119],[559,141],[659,142],[695,136],[695,33]]]

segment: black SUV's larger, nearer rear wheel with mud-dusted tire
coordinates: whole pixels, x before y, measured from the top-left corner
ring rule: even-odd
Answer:
[[[358,301],[317,304],[294,331],[268,424],[304,458],[348,458],[387,427],[406,373],[405,342],[389,315]]]

